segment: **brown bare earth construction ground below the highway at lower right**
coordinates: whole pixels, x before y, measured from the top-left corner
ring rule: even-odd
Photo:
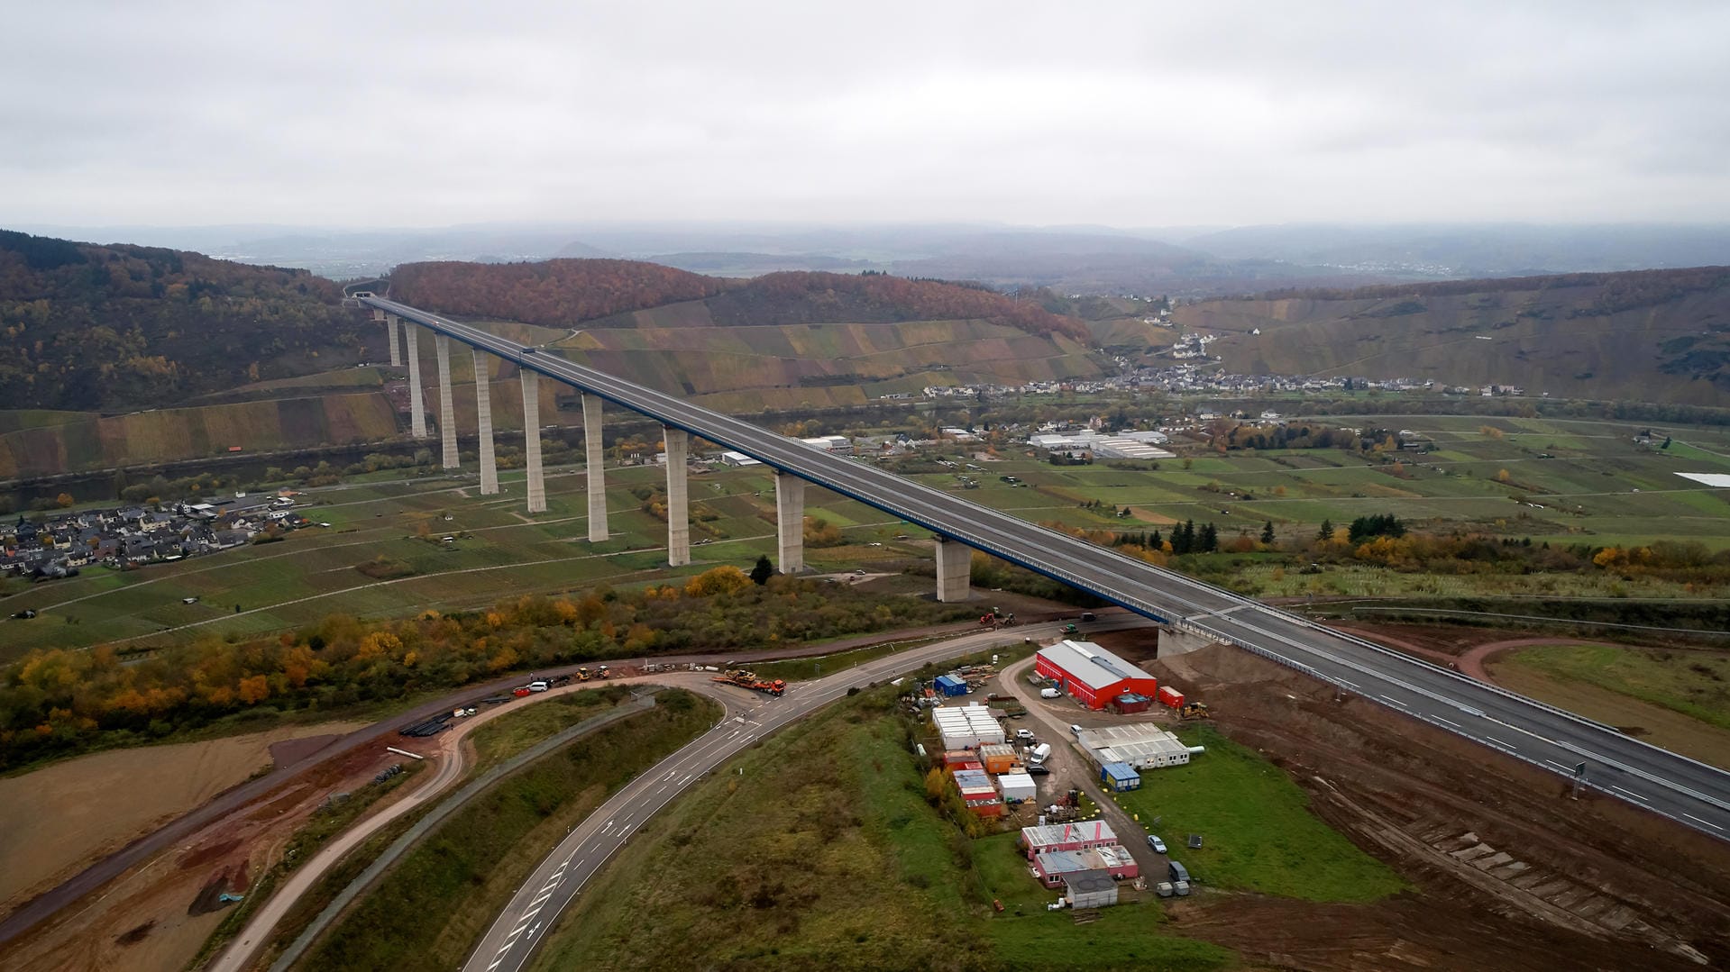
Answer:
[[[1730,844],[1597,794],[1569,799],[1560,777],[1235,649],[1154,659],[1144,633],[1099,640],[1213,706],[1221,732],[1417,887],[1374,905],[1204,889],[1171,908],[1175,930],[1280,969],[1730,963]]]

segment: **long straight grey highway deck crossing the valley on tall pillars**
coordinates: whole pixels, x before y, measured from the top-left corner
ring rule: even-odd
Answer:
[[[1535,766],[1573,777],[1576,766],[1585,764],[1586,785],[1730,841],[1730,773],[1714,766],[740,419],[545,351],[524,353],[512,341],[455,320],[377,297],[363,297],[363,303],[742,451],[939,536],[1092,592],[1144,617],[1240,645]]]

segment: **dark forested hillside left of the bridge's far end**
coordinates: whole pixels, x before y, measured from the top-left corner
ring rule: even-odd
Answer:
[[[0,230],[0,401],[128,410],[365,356],[365,320],[304,270]]]

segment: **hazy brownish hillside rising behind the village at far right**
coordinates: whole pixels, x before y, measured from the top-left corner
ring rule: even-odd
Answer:
[[[1285,291],[1180,306],[1249,374],[1519,386],[1554,398],[1723,405],[1730,268]]]

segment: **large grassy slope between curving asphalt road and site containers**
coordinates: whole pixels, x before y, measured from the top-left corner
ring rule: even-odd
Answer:
[[[1233,963],[1178,937],[1157,905],[1090,925],[1045,911],[1048,892],[1017,873],[1003,837],[969,841],[926,803],[891,709],[863,695],[734,759],[625,846],[535,967],[676,969],[694,941],[711,969]],[[995,913],[993,898],[1009,908]]]

